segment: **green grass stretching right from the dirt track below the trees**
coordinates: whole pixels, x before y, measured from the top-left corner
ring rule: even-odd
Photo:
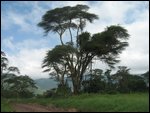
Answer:
[[[76,108],[78,111],[148,112],[149,94],[82,94],[68,98],[21,99],[21,103],[53,104],[56,107]]]

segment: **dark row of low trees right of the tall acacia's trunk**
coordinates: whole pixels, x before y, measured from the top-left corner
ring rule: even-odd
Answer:
[[[93,70],[90,78],[82,82],[83,92],[88,93],[130,93],[130,92],[146,92],[148,87],[144,78],[138,75],[132,75],[125,66],[119,66],[116,74],[111,75],[111,70]]]

